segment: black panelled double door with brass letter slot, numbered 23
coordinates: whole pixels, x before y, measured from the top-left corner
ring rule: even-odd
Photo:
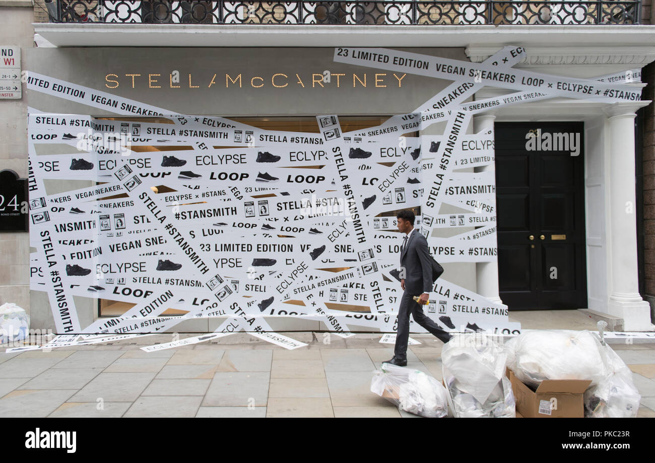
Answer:
[[[496,123],[495,152],[500,299],[510,310],[587,307],[584,124]]]

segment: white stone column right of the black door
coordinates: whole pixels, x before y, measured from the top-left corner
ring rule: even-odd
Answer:
[[[651,330],[650,305],[639,295],[635,219],[635,111],[639,103],[614,103],[608,116],[610,152],[607,182],[608,312],[624,319],[624,330]]]

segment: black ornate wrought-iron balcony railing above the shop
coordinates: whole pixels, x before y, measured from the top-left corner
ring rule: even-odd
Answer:
[[[46,0],[51,22],[143,24],[639,24],[638,1]]]

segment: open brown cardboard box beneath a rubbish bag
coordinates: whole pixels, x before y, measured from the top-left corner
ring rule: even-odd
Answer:
[[[533,391],[509,369],[507,375],[512,383],[517,417],[584,418],[583,394],[591,384],[590,379],[544,379]]]

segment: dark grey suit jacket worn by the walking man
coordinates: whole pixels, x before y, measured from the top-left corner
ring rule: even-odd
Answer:
[[[407,246],[400,252],[400,266],[405,268],[405,290],[418,296],[432,291],[432,256],[428,240],[419,230],[409,235]]]

